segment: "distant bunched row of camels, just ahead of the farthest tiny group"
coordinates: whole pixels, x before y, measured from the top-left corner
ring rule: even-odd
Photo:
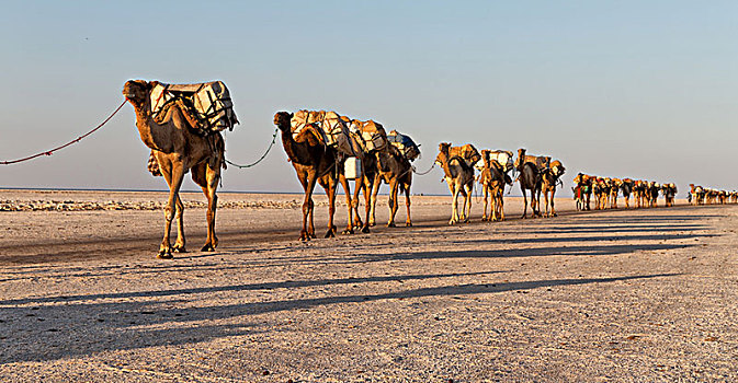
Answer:
[[[677,197],[677,185],[673,183],[659,184],[654,181],[600,177],[579,173],[574,178],[574,184],[571,192],[578,210],[590,210],[592,196],[595,210],[617,209],[617,198],[621,194],[626,209],[631,208],[631,197],[634,208],[655,208],[659,193],[663,196],[666,207],[673,206]]]

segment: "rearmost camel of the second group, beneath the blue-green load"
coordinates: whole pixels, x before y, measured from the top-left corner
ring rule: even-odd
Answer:
[[[376,210],[377,193],[379,186],[384,181],[389,185],[389,220],[387,228],[395,228],[395,216],[398,208],[398,189],[405,193],[405,207],[407,208],[407,218],[405,219],[406,227],[412,227],[410,219],[410,186],[412,185],[412,165],[410,161],[402,155],[402,153],[395,146],[387,146],[387,151],[376,153],[376,165],[378,175],[374,178],[372,185],[372,213],[370,216],[370,224],[374,225],[374,212]]]

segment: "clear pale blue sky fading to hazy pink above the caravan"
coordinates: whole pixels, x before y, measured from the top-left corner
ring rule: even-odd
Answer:
[[[411,136],[419,171],[450,141],[559,159],[566,189],[578,172],[738,189],[736,1],[2,4],[0,161],[89,131],[129,79],[223,80],[236,163],[264,152],[276,112],[308,108]],[[0,165],[0,187],[167,189],[148,153],[128,104],[75,146]],[[449,194],[441,178],[416,176],[413,193]],[[277,140],[222,190],[302,188]]]

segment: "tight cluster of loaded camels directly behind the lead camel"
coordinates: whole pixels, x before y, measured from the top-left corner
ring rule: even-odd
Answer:
[[[349,213],[344,234],[354,233],[354,229],[370,232],[370,227],[375,224],[376,196],[383,182],[389,185],[390,190],[387,227],[395,227],[399,192],[405,193],[406,225],[412,225],[411,162],[420,155],[420,149],[410,137],[396,130],[387,134],[382,124],[374,120],[362,121],[325,111],[279,112],[274,116],[274,125],[282,132],[284,151],[305,190],[300,240],[316,237],[313,223],[313,189],[316,183],[326,190],[329,199],[326,237],[336,235],[333,213],[339,183],[345,192]],[[350,179],[355,182],[353,197]],[[359,214],[360,190],[364,194],[364,221]]]

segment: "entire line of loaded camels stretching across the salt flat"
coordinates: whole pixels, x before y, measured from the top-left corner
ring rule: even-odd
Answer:
[[[239,124],[234,112],[230,93],[220,81],[198,84],[166,84],[158,81],[130,80],[123,86],[123,94],[136,113],[136,127],[141,141],[150,149],[148,170],[163,176],[169,185],[164,208],[164,234],[157,254],[171,258],[172,253],[185,252],[185,237],[180,199],[180,187],[190,172],[207,198],[207,239],[203,252],[213,252],[218,245],[215,234],[217,209],[216,190],[220,171],[226,169],[225,140],[220,134]],[[302,241],[316,237],[314,225],[315,202],[313,192],[320,185],[328,196],[328,228],[326,237],[338,231],[333,216],[338,186],[344,190],[348,222],[344,234],[355,231],[370,232],[375,225],[377,193],[381,185],[389,186],[389,219],[387,227],[395,227],[399,207],[398,196],[405,194],[407,218],[410,214],[410,187],[415,166],[420,156],[420,146],[409,136],[385,127],[372,119],[359,120],[336,112],[297,111],[279,112],[274,125],[281,131],[282,144],[305,192],[302,205]],[[484,194],[481,221],[503,221],[506,186],[519,183],[523,195],[523,214],[527,207],[532,217],[556,217],[555,194],[563,186],[566,169],[548,155],[530,155],[526,150],[512,151],[484,149],[472,143],[454,147],[441,142],[433,165],[440,165],[452,196],[449,224],[469,222],[475,189]],[[351,190],[350,182],[354,188]],[[674,204],[677,186],[643,179],[610,178],[577,174],[571,188],[578,210],[615,209],[622,194],[625,208],[656,207],[659,194],[666,206]],[[688,196],[692,205],[738,202],[738,193],[716,190],[690,185]],[[364,211],[360,213],[360,194],[364,197]],[[544,196],[543,208],[541,194]],[[463,199],[458,208],[459,196]],[[592,196],[594,199],[592,200]],[[633,204],[631,198],[633,197]],[[177,240],[170,241],[172,221],[177,222]]]

